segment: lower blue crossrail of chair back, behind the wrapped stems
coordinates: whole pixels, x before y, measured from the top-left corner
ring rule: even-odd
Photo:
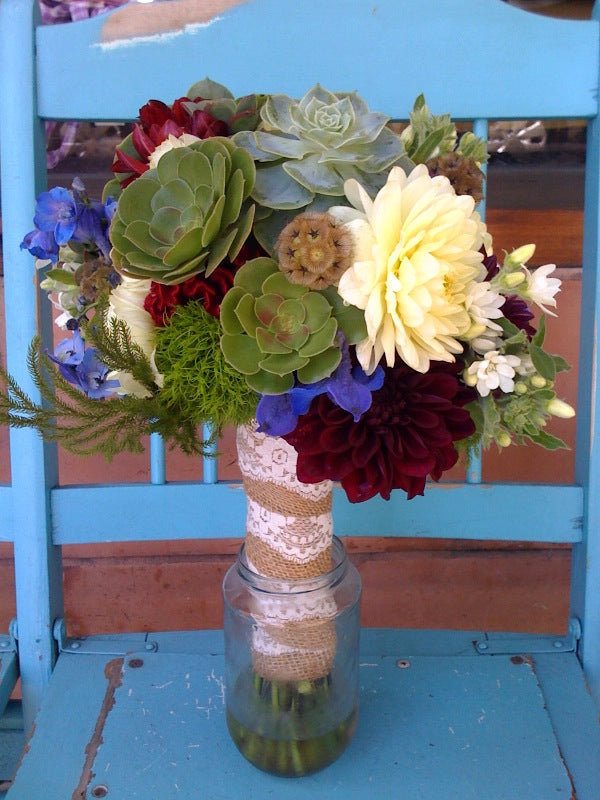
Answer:
[[[410,503],[396,493],[389,501],[377,497],[351,505],[334,489],[333,515],[337,532],[344,536],[575,542],[581,535],[581,503],[577,486],[444,483],[431,485],[425,497]],[[510,507],[520,513],[506,525]],[[173,508],[199,508],[202,513],[174,516]],[[213,513],[217,509],[218,515]],[[245,495],[239,484],[228,483],[57,488],[52,491],[52,513],[54,544],[229,538],[242,533]]]

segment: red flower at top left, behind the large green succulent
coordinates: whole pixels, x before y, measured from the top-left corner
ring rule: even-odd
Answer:
[[[194,102],[201,99],[196,97]],[[229,135],[227,123],[216,119],[208,111],[196,109],[190,114],[185,107],[188,102],[189,97],[180,97],[172,106],[161,100],[150,100],[140,108],[140,121],[134,125],[131,134],[131,144],[138,157],[117,147],[111,167],[114,173],[125,176],[121,179],[123,188],[146,172],[151,154],[169,135],[179,137],[191,133],[199,139]]]

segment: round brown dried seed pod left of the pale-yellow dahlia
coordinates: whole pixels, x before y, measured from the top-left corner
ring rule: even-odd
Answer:
[[[309,211],[285,226],[277,250],[279,269],[291,283],[326,289],[352,264],[352,235],[331,214]]]

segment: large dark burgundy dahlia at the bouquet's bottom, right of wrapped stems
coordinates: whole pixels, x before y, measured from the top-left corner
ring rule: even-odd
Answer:
[[[386,369],[383,387],[358,422],[319,395],[284,438],[298,452],[304,483],[340,481],[353,503],[392,489],[410,500],[427,476],[439,480],[458,460],[454,442],[475,431],[463,405],[475,398],[459,382],[462,364],[434,362],[421,374],[405,364]]]

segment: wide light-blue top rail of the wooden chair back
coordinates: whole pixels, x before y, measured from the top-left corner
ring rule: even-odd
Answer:
[[[217,9],[226,5],[218,4]],[[148,98],[175,98],[187,89],[172,68],[177,62],[195,65],[190,84],[210,72],[237,96],[261,91],[299,97],[326,76],[328,88],[356,89],[372,108],[404,118],[420,92],[426,93],[432,108],[451,110],[455,118],[596,113],[596,22],[557,21],[501,3],[486,4],[486,25],[494,31],[494,40],[511,43],[496,48],[490,58],[489,41],[478,28],[481,3],[444,0],[443,6],[446,14],[440,13],[439,0],[421,0],[408,3],[399,14],[394,0],[380,0],[376,5],[352,0],[344,6],[340,25],[337,9],[320,0],[304,0],[286,9],[285,15],[279,0],[255,0],[208,24],[163,36],[161,47],[155,49],[156,37],[135,44],[129,41],[128,46],[101,46],[104,19],[76,23],[78,27],[72,30],[65,25],[46,26],[39,29],[37,38],[38,60],[47,76],[39,87],[40,113],[51,119],[96,119],[98,114],[103,119],[131,119]],[[152,14],[153,9],[144,12]],[[223,47],[224,41],[258,40],[266,30],[268,58],[254,47],[240,60]],[[348,73],[345,54],[361,53],[366,41],[383,41],[385,36],[386,41],[394,37],[405,41],[407,30],[411,31],[408,58],[390,58],[386,48],[375,47],[368,57],[356,58],[354,74]],[[439,64],[430,57],[432,41],[446,53],[453,52],[457,41],[469,42],[470,59],[452,60],[452,80],[439,79]],[[535,48],[530,47],[531,41],[536,41]],[[57,52],[69,52],[69,61],[57,60]],[[79,68],[71,69],[71,63]],[[102,75],[103,80],[90,92],[87,76],[93,74]],[[396,108],[389,108],[390,85]],[[69,92],[64,86],[70,87]],[[104,94],[103,87],[107,87]]]

